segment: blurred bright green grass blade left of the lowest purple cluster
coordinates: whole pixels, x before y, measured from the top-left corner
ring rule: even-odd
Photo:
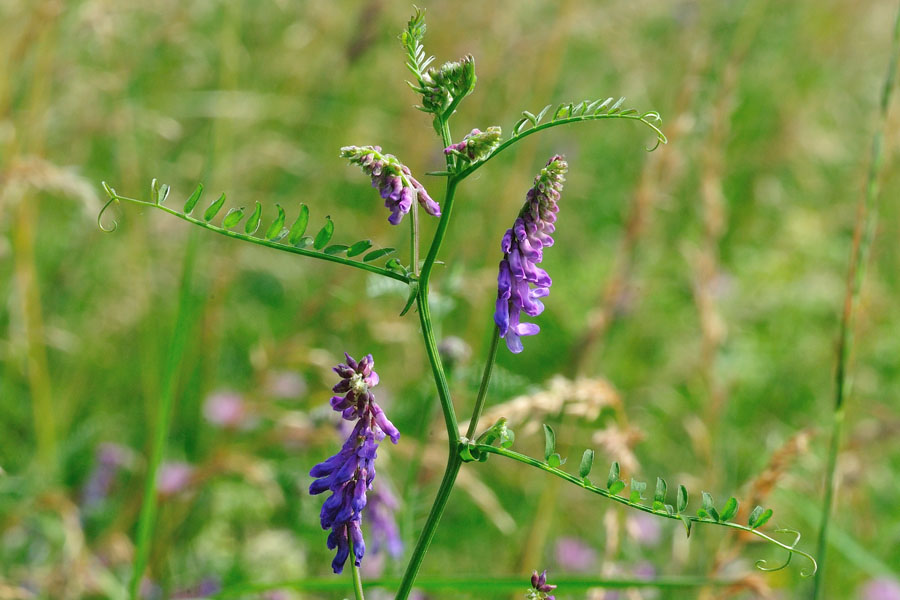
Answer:
[[[157,414],[155,436],[153,447],[150,451],[150,459],[147,462],[147,474],[144,478],[144,499],[138,520],[137,548],[134,553],[134,568],[129,584],[131,600],[138,600],[139,598],[141,577],[147,568],[147,561],[150,557],[151,536],[157,512],[156,476],[159,471],[159,465],[162,462],[166,439],[169,437],[172,406],[175,400],[176,375],[178,367],[181,365],[181,359],[184,356],[190,330],[190,288],[196,258],[197,238],[192,235],[188,239],[188,246],[184,255],[184,265],[181,271],[181,289],[178,298],[178,316],[175,319],[175,330],[172,333],[168,361],[166,361],[166,368],[163,373],[162,396],[160,397],[159,413]]]

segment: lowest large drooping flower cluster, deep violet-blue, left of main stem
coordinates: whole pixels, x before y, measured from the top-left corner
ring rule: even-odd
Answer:
[[[366,506],[366,491],[372,489],[375,480],[378,443],[385,435],[395,444],[400,439],[400,432],[387,419],[370,391],[378,384],[378,373],[372,370],[372,355],[358,363],[349,354],[345,356],[347,362],[334,368],[341,381],[333,389],[343,395],[333,396],[331,406],[347,421],[356,421],[356,425],[341,450],[309,472],[316,478],[309,486],[310,494],[331,492],[319,517],[322,529],[331,529],[329,550],[337,549],[331,562],[335,573],[343,571],[350,555],[351,541],[357,566],[365,554],[360,520]]]

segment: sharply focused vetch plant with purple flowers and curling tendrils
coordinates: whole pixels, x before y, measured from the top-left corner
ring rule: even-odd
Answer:
[[[281,206],[276,207],[274,218],[267,217],[264,220],[262,205],[259,202],[255,203],[252,210],[232,208],[223,215],[226,202],[224,194],[205,208],[198,208],[203,192],[203,186],[198,185],[183,207],[176,209],[166,204],[169,186],[160,184],[157,180],[151,183],[150,197],[147,200],[123,196],[104,183],[103,187],[109,200],[98,217],[100,226],[106,230],[115,229],[114,223],[111,227],[103,225],[103,214],[109,206],[127,201],[156,208],[220,235],[363,270],[407,286],[408,301],[401,314],[406,314],[413,306],[418,313],[422,342],[431,366],[446,427],[448,453],[437,495],[396,591],[396,598],[399,600],[407,598],[412,590],[460,468],[464,464],[484,462],[492,455],[544,471],[630,509],[659,518],[678,520],[683,523],[688,536],[694,526],[717,525],[755,535],[787,551],[787,559],[783,564],[768,566],[765,561],[758,561],[757,567],[764,571],[784,568],[795,554],[799,554],[811,563],[811,568],[804,571],[804,574],[815,572],[816,562],[813,557],[797,548],[799,533],[776,529],[774,533],[792,536],[789,542],[784,542],[762,531],[762,527],[772,517],[771,509],[756,507],[746,523],[737,523],[732,520],[738,512],[738,502],[735,498],[729,498],[725,503],[717,505],[710,494],[702,492],[700,507],[691,510],[688,507],[688,491],[684,486],[678,486],[673,494],[663,479],[657,479],[652,489],[648,489],[645,482],[634,478],[625,481],[621,477],[618,462],[613,462],[610,466],[605,485],[596,485],[590,479],[595,458],[594,450],[584,451],[580,461],[577,461],[575,473],[563,469],[567,461],[557,452],[556,434],[549,425],[544,426],[544,456],[539,458],[512,449],[515,435],[506,418],[499,419],[479,433],[478,422],[484,409],[499,340],[504,339],[511,352],[519,353],[524,350],[521,338],[536,335],[540,330],[537,323],[523,322],[522,319],[523,313],[529,318],[540,316],[544,309],[542,298],[548,296],[552,283],[550,276],[539,264],[545,249],[553,245],[552,234],[555,231],[563,181],[569,170],[568,163],[560,155],[553,155],[536,175],[533,186],[526,194],[523,208],[518,215],[510,215],[512,226],[499,240],[502,257],[497,278],[495,328],[490,350],[485,359],[475,407],[465,435],[460,435],[445,365],[435,339],[429,297],[434,266],[452,222],[456,193],[460,184],[520,140],[552,127],[592,121],[633,122],[652,131],[656,143],[651,150],[666,143],[666,137],[658,126],[660,117],[656,112],[639,112],[624,108],[624,98],[614,100],[610,97],[562,103],[555,108],[547,105],[537,113],[524,111],[505,138],[500,127],[490,126],[484,130],[470,129],[468,135],[454,143],[450,122],[459,103],[474,90],[477,79],[475,61],[471,56],[466,56],[455,62],[447,62],[439,68],[432,67],[434,58],[426,55],[422,45],[425,29],[424,15],[417,10],[401,34],[400,40],[407,54],[406,66],[412,73],[413,81],[410,82],[410,87],[419,95],[420,104],[417,108],[432,115],[432,124],[440,137],[440,149],[445,166],[441,171],[429,173],[444,180],[443,198],[440,203],[431,197],[409,167],[394,155],[383,152],[379,146],[346,146],[340,149],[340,156],[359,166],[371,179],[373,187],[378,190],[385,207],[390,211],[388,221],[391,224],[399,225],[404,217],[409,215],[408,256],[401,258],[397,255],[396,249],[378,246],[369,239],[335,243],[334,222],[325,217],[318,229],[310,229],[311,211],[304,204],[300,204],[294,211],[296,216],[291,221],[287,219],[287,212]],[[427,214],[439,218],[434,236],[428,244],[427,254],[422,261],[419,259],[420,206]],[[495,249],[496,246],[491,244],[486,246],[484,251],[494,252]],[[312,468],[310,474],[315,481],[309,491],[312,494],[330,493],[322,505],[320,516],[323,529],[330,531],[326,543],[336,552],[332,568],[336,573],[340,573],[350,558],[354,593],[361,599],[363,585],[358,567],[365,557],[367,494],[374,487],[376,450],[386,436],[397,443],[400,432],[375,402],[372,388],[378,384],[378,375],[373,370],[372,356],[367,355],[357,362],[346,355],[346,361],[335,367],[341,381],[334,387],[337,395],[331,399],[331,406],[341,413],[343,419],[354,423],[354,426],[341,450]],[[168,395],[160,411],[157,442],[164,440],[167,435],[166,417],[170,410],[171,395]],[[161,461],[161,447],[161,444],[154,447],[154,455],[149,461],[147,473],[149,486],[156,480]],[[152,531],[156,513],[155,503],[156,496],[147,493],[139,521],[138,547],[132,573],[132,598],[137,597],[138,582],[147,564],[151,543],[149,532]],[[371,521],[369,524],[376,525]],[[380,523],[378,526],[383,524]],[[390,539],[392,535],[388,534],[387,537]],[[554,587],[547,584],[545,573],[540,576],[535,573],[530,597],[552,598],[553,596],[548,594]]]

